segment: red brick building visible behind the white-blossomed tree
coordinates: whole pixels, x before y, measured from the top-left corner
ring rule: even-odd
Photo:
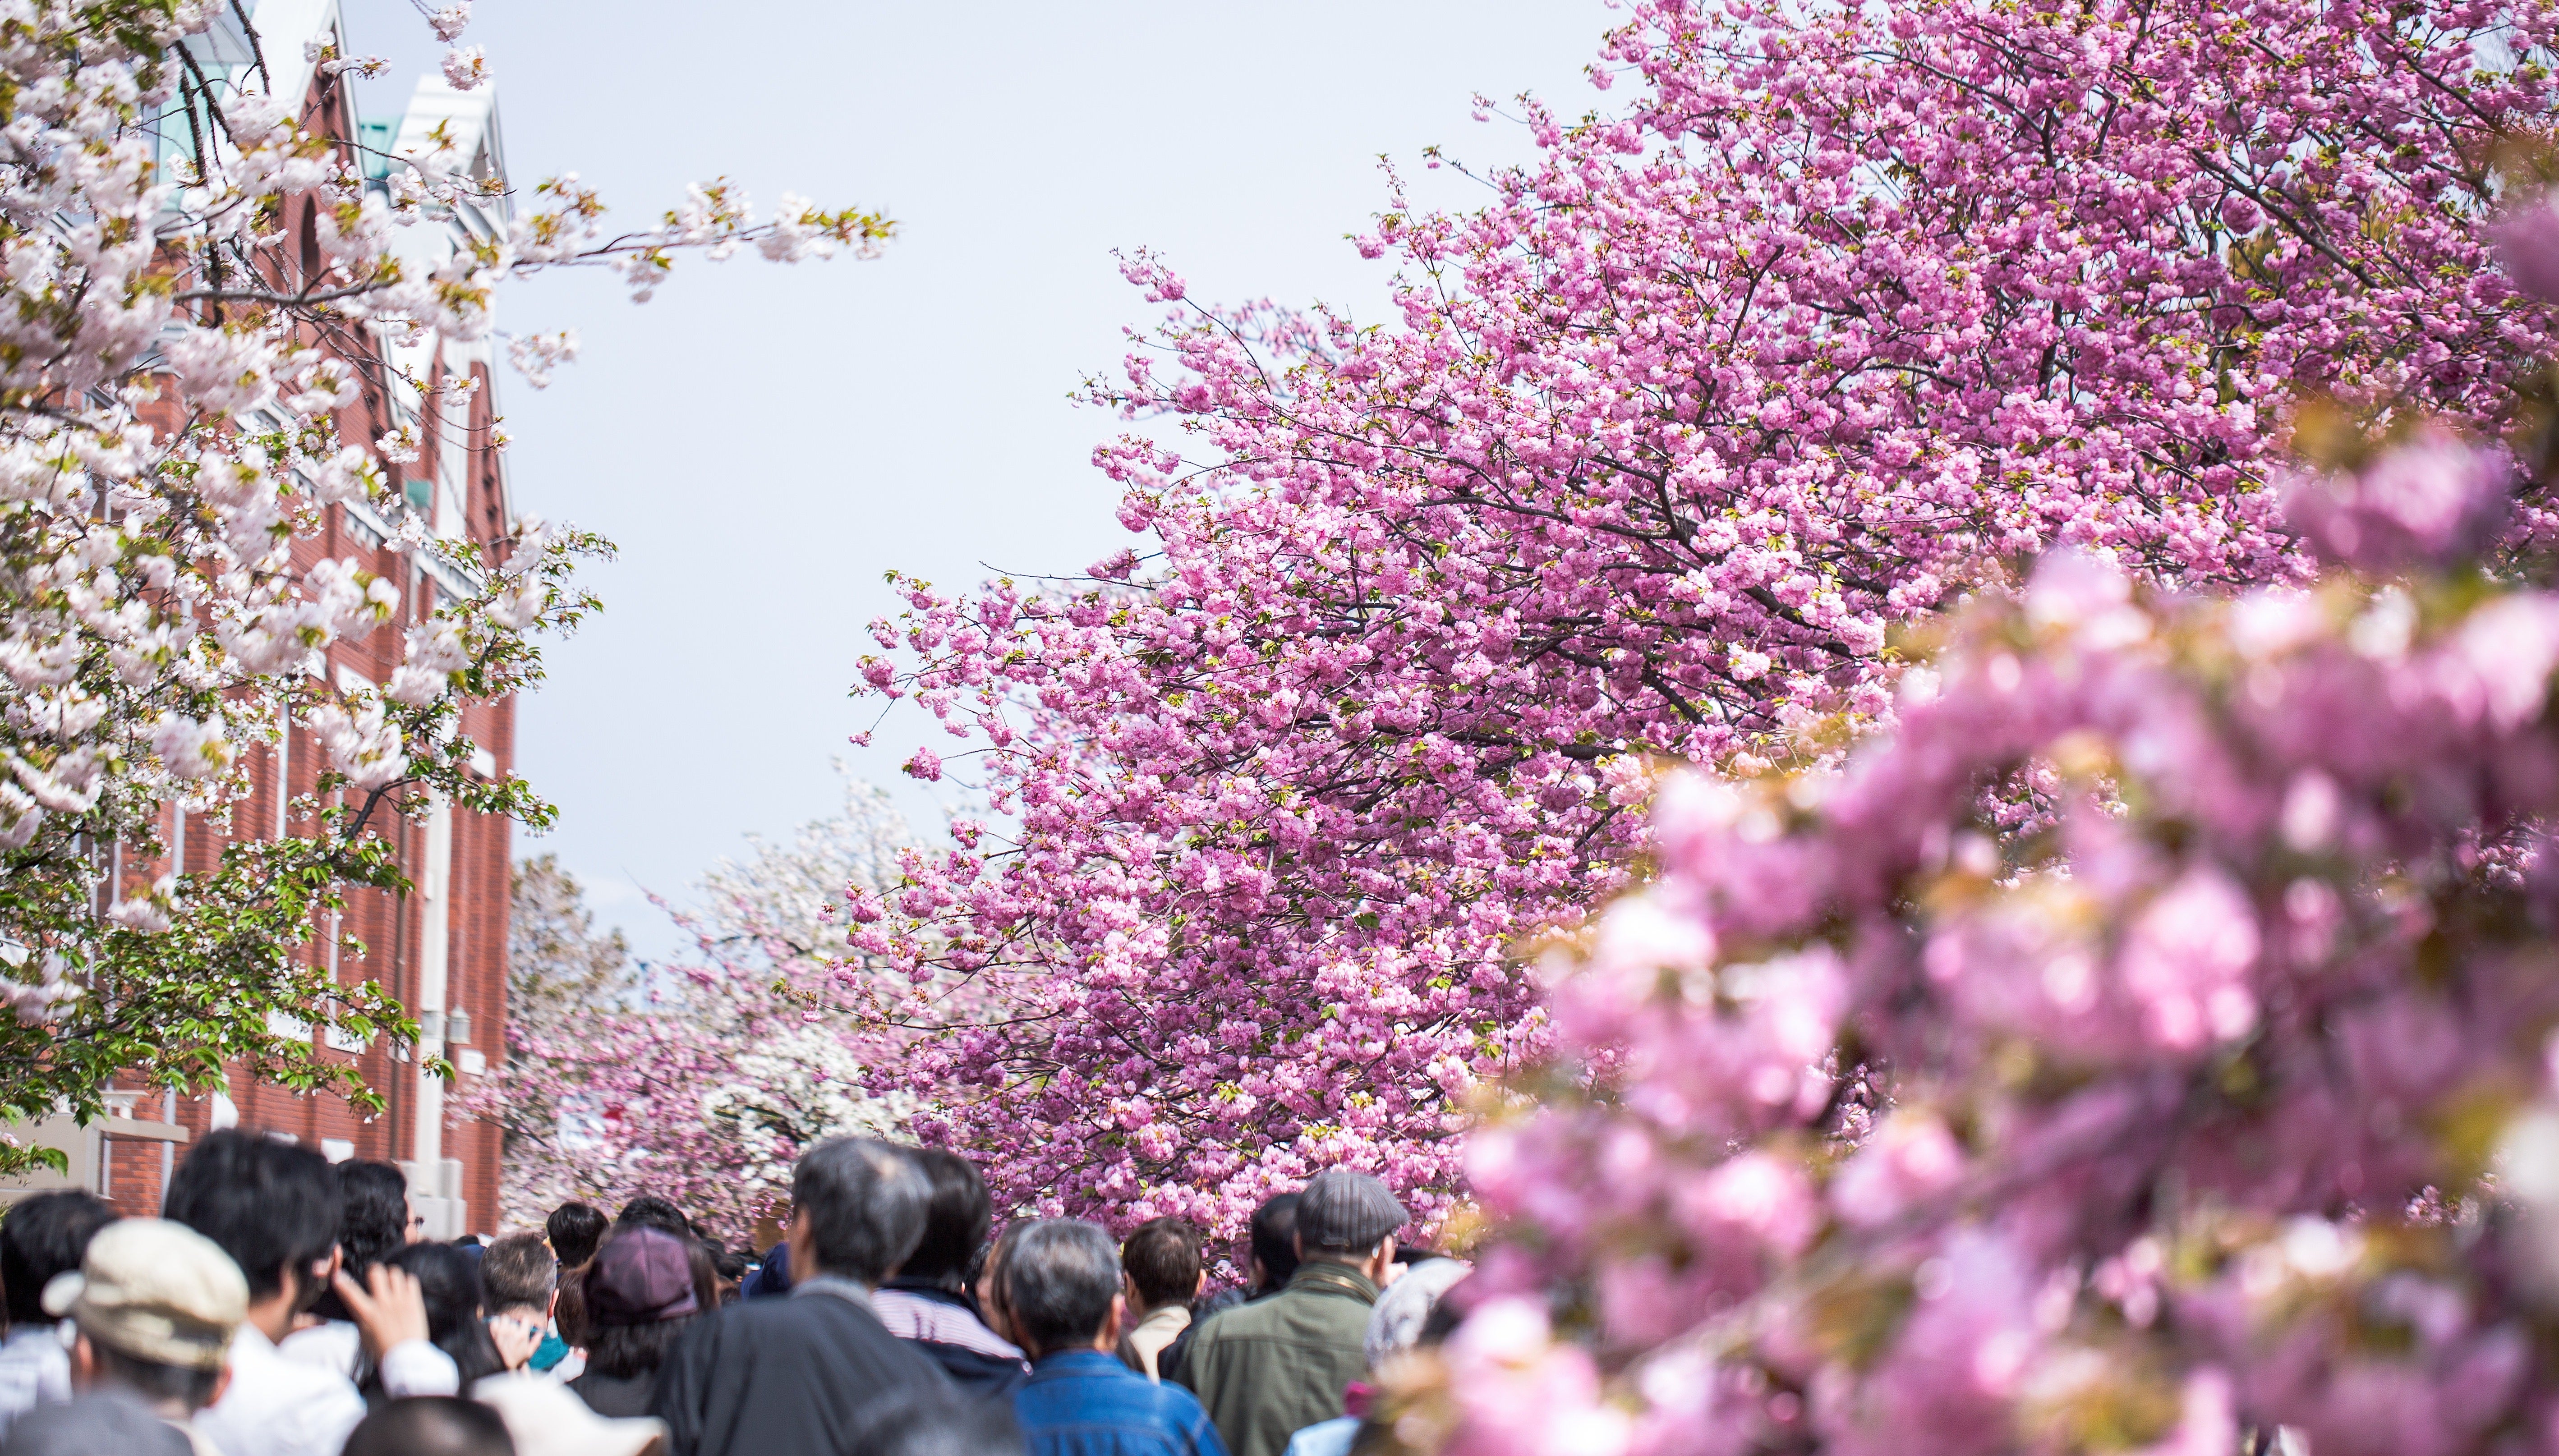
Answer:
[[[427,133],[443,125],[456,146],[456,166],[471,174],[502,174],[496,100],[489,90],[456,92],[443,79],[422,79],[402,118],[368,123],[356,115],[353,97],[338,77],[322,77],[302,61],[305,41],[338,41],[335,0],[264,0],[256,8],[258,38],[279,95],[302,95],[302,125],[317,136],[361,143],[366,174],[386,171],[381,154],[427,151]],[[340,54],[358,54],[340,46]],[[248,61],[243,36],[215,31],[202,38],[200,59],[241,74]],[[299,202],[307,212],[310,200]],[[440,223],[404,230],[402,253],[432,266],[438,251],[456,246],[463,230],[489,235],[504,228],[502,202],[473,207],[458,202]],[[310,238],[310,218],[289,218]],[[310,243],[307,243],[310,248]],[[317,253],[312,253],[317,258]],[[399,583],[399,617],[366,640],[328,653],[325,670],[340,686],[384,683],[399,660],[402,632],[430,614],[440,599],[463,596],[473,583],[450,566],[399,550],[397,517],[409,512],[443,537],[496,540],[514,522],[502,455],[491,448],[496,379],[489,340],[445,340],[427,335],[394,356],[397,371],[368,368],[363,399],[340,415],[345,440],[379,440],[420,425],[422,448],[415,463],[394,466],[397,494],[384,507],[330,509],[328,527],[299,550],[307,560],[351,555],[368,571]],[[420,392],[417,381],[448,376],[476,381],[476,389]],[[514,768],[514,704],[473,706],[463,732],[481,745],[476,773],[507,775]],[[256,791],[233,806],[228,829],[202,816],[171,814],[164,839],[184,870],[218,865],[225,837],[274,837],[294,829],[287,806],[312,793],[320,750],[299,734],[274,747],[251,750],[248,770]],[[333,1162],[348,1157],[397,1162],[409,1175],[409,1190],[427,1218],[430,1236],[453,1238],[491,1231],[499,1205],[499,1131],[450,1113],[456,1095],[494,1070],[507,1047],[507,898],[509,829],[507,819],[435,806],[422,819],[397,819],[384,827],[399,847],[412,890],[389,896],[353,890],[343,929],[363,942],[361,960],[335,949],[338,937],[315,937],[312,957],[328,962],[340,980],[379,980],[425,1026],[425,1049],[443,1052],[461,1067],[461,1085],[420,1072],[417,1062],[394,1054],[381,1039],[356,1044],[335,1029],[276,1026],[284,1034],[315,1036],[325,1057],[353,1062],[366,1085],[386,1098],[379,1116],[361,1116],[340,1098],[307,1098],[284,1088],[253,1085],[233,1072],[228,1093],[177,1098],[166,1093],[110,1093],[110,1116],[90,1128],[69,1121],[38,1128],[41,1141],[72,1154],[69,1177],[31,1180],[10,1192],[44,1185],[90,1187],[128,1213],[156,1213],[166,1169],[182,1157],[182,1144],[218,1126],[241,1126],[289,1136],[325,1151]],[[299,832],[299,829],[297,829]],[[146,885],[169,865],[120,865],[120,880]]]

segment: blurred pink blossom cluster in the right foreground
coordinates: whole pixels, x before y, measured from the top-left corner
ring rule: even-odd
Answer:
[[[2515,486],[2303,473],[2362,548],[2237,594],[2052,553],[1845,763],[1671,778],[1471,1141],[1502,1251],[1405,1443],[2544,1448],[2559,594],[2452,530]]]

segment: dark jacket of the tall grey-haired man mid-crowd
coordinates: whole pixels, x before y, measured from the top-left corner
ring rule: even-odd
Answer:
[[[870,1290],[814,1277],[693,1320],[658,1366],[653,1415],[668,1456],[860,1456],[865,1418],[919,1392],[957,1400],[934,1361],[880,1328]]]

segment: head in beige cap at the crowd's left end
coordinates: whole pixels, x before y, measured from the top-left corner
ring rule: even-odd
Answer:
[[[44,1308],[77,1331],[72,1377],[82,1389],[125,1389],[184,1418],[223,1392],[248,1279],[202,1233],[125,1218],[90,1238],[77,1272],[46,1285]]]

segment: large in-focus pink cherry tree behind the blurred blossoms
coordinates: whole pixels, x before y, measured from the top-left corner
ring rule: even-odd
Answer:
[[[1397,315],[1187,302],[1090,399],[1139,550],[903,583],[868,683],[965,747],[868,957],[1001,1016],[911,1062],[1018,1198],[1233,1226],[1313,1167],[1425,1210],[1541,1049],[1520,947],[1622,888],[1658,763],[1894,714],[1896,632],[2052,548],[2283,581],[2285,402],[2487,430],[2549,312],[2487,256],[2554,13],[1645,0],[1471,212],[1397,192]],[[1433,166],[1441,161],[1433,156]],[[2539,496],[2526,530],[2544,525]]]

